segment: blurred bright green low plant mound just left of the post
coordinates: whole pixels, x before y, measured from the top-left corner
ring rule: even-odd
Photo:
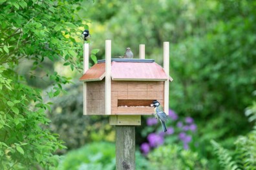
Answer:
[[[87,144],[64,156],[59,170],[69,169],[115,169],[115,146],[106,142]]]

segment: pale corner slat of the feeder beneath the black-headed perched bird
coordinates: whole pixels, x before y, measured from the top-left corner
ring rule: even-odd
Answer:
[[[83,44],[83,73],[89,69],[89,44]],[[87,82],[83,82],[83,115],[87,115]]]

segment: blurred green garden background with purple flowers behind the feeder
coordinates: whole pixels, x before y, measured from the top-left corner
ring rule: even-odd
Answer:
[[[256,169],[256,1],[78,2],[70,8],[76,9],[74,22],[83,23],[76,23],[74,37],[80,63],[84,28],[91,32],[90,50],[100,50],[97,59],[104,59],[105,40],[111,39],[113,57],[130,47],[138,58],[139,44],[145,44],[145,58],[162,65],[163,42],[170,42],[169,133],[142,117],[136,169]],[[46,93],[52,82],[26,76],[33,63],[27,59],[15,70]],[[54,169],[115,169],[109,117],[83,116],[81,65],[74,71],[61,59],[41,65],[35,75],[47,69],[73,82],[57,97],[43,97],[51,105],[50,131],[67,146],[54,152],[61,155]]]

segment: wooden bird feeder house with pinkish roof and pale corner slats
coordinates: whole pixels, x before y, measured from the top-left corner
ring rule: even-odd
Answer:
[[[169,42],[164,42],[164,68],[153,59],[106,59],[88,69],[89,45],[85,44],[83,82],[84,115],[152,115],[153,100],[169,113]]]

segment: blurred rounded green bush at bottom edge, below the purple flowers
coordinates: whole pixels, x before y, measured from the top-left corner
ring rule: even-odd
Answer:
[[[198,153],[184,150],[176,145],[160,146],[149,153],[152,169],[208,169],[207,160],[200,158]]]

